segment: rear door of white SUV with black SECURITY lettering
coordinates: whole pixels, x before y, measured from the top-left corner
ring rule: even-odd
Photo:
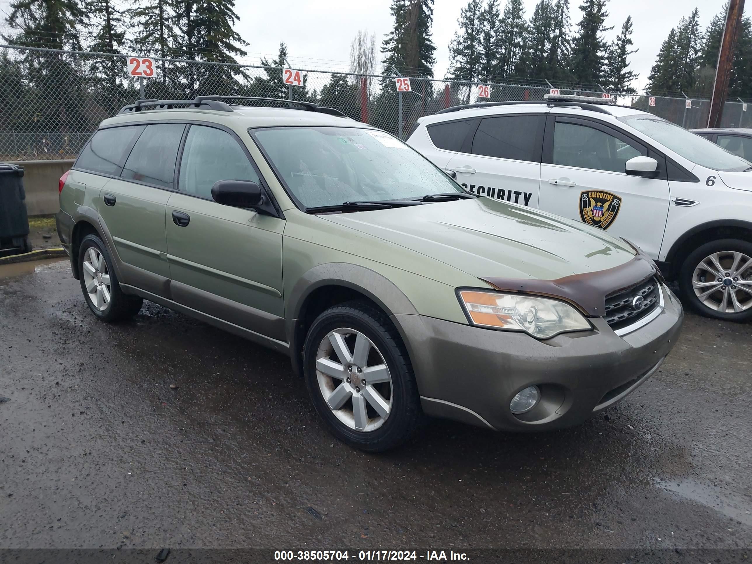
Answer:
[[[483,117],[445,168],[472,193],[537,208],[544,126],[545,114]]]

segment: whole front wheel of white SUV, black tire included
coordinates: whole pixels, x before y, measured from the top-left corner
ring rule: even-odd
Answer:
[[[679,288],[701,315],[752,320],[752,243],[720,239],[693,250],[681,265]]]

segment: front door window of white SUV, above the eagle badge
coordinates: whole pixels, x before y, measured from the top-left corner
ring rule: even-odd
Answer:
[[[594,127],[556,122],[553,128],[554,165],[624,172],[626,162],[640,155],[647,152]]]

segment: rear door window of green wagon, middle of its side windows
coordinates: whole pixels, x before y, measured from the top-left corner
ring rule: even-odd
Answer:
[[[147,126],[136,141],[121,177],[154,186],[172,188],[175,160],[185,126],[182,123],[157,123]]]

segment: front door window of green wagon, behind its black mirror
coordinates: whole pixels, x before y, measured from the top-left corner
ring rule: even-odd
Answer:
[[[220,180],[252,180],[259,176],[238,141],[222,129],[190,126],[180,160],[180,192],[211,200]]]

